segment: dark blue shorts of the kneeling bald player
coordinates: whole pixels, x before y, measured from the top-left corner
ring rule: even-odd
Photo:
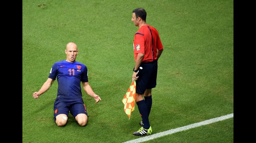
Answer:
[[[53,115],[55,121],[57,115],[65,114],[68,116],[69,111],[74,117],[81,113],[88,116],[83,99],[58,98],[55,100],[53,106]]]

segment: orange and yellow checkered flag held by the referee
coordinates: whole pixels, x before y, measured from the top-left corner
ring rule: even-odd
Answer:
[[[136,82],[131,83],[128,91],[126,92],[122,102],[124,103],[124,112],[128,115],[129,120],[132,111],[135,107],[135,96],[136,96]]]

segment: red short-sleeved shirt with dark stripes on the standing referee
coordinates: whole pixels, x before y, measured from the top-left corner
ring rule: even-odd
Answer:
[[[153,44],[152,44],[153,43]],[[142,62],[151,62],[156,59],[157,50],[163,49],[159,34],[155,28],[143,25],[135,33],[133,40],[133,51],[135,61],[138,53],[144,53]]]

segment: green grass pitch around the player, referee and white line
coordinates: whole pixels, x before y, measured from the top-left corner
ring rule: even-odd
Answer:
[[[233,113],[232,0],[23,0],[22,140],[119,143],[139,137],[137,105],[130,120],[123,99],[134,68],[132,10],[143,7],[164,51],[158,60],[149,121],[153,133]],[[39,99],[32,94],[47,80],[65,46],[77,44],[77,61],[102,101],[82,90],[89,114],[80,127],[72,115],[66,126],[53,119],[57,81]],[[233,118],[147,141],[233,142]]]

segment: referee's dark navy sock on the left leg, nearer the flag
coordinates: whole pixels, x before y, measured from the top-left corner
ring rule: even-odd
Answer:
[[[149,125],[149,120],[148,120],[148,115],[147,115],[147,105],[145,103],[145,100],[141,100],[141,101],[138,101],[136,103],[137,103],[139,113],[140,113],[141,118],[142,118],[143,128],[144,129],[149,129],[150,125]]]

